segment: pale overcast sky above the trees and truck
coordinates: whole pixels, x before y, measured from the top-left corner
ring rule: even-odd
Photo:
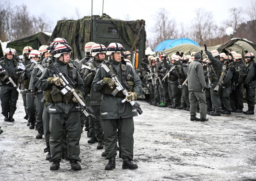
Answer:
[[[3,0],[1,0],[3,1]],[[91,15],[102,15],[103,0],[10,0],[13,5],[26,4],[32,15],[46,14],[53,22],[52,30],[58,20],[63,17],[68,19],[78,19]],[[223,23],[229,17],[229,8],[247,7],[251,4],[251,0],[104,0],[103,13],[111,18],[122,20],[144,19],[146,22],[146,31],[149,37],[154,34],[150,29],[155,25],[153,20],[156,12],[165,8],[169,18],[174,18],[176,23],[182,22],[184,25],[191,25],[195,18],[195,9],[204,8],[211,11],[216,24]]]

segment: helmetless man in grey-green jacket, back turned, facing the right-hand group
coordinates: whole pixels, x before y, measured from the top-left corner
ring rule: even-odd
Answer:
[[[195,60],[188,66],[188,90],[190,102],[190,120],[208,121],[207,104],[205,99],[206,82],[204,79],[204,69],[201,63],[201,54],[195,54]],[[200,119],[196,117],[197,102],[199,102]]]

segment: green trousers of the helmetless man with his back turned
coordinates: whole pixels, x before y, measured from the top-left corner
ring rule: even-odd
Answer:
[[[196,115],[197,103],[199,104],[200,118],[206,119],[207,104],[205,98],[205,92],[202,91],[189,91],[190,102],[190,116]]]

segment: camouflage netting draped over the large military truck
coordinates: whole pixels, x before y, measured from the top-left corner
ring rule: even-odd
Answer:
[[[50,41],[56,37],[61,37],[67,40],[68,45],[73,49],[72,58],[77,57],[82,59],[79,51],[84,50],[85,43],[91,41],[91,19],[109,19],[116,26],[123,39],[131,47],[136,47],[138,41],[141,38],[141,30],[145,25],[144,20],[136,21],[122,21],[118,19],[112,19],[106,14],[102,16],[84,16],[78,20],[60,20],[57,22],[56,27],[52,32]],[[144,45],[146,44],[146,38]],[[145,46],[144,46],[145,47]],[[144,51],[143,51],[144,52]]]

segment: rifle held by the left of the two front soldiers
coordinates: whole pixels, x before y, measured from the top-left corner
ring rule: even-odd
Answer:
[[[95,116],[92,115],[93,110],[91,107],[87,107],[83,100],[78,96],[78,94],[76,93],[74,86],[75,83],[72,81],[72,79],[67,75],[67,73],[61,73],[59,69],[57,69],[53,64],[50,64],[47,67],[54,76],[59,77],[60,79],[62,79],[62,85],[63,85],[63,89],[60,91],[60,93],[62,95],[65,95],[66,93],[68,93],[68,91],[70,91],[73,96],[77,99],[77,101],[79,102],[80,105],[80,110],[85,114],[86,117],[90,116],[92,119],[95,118]]]

